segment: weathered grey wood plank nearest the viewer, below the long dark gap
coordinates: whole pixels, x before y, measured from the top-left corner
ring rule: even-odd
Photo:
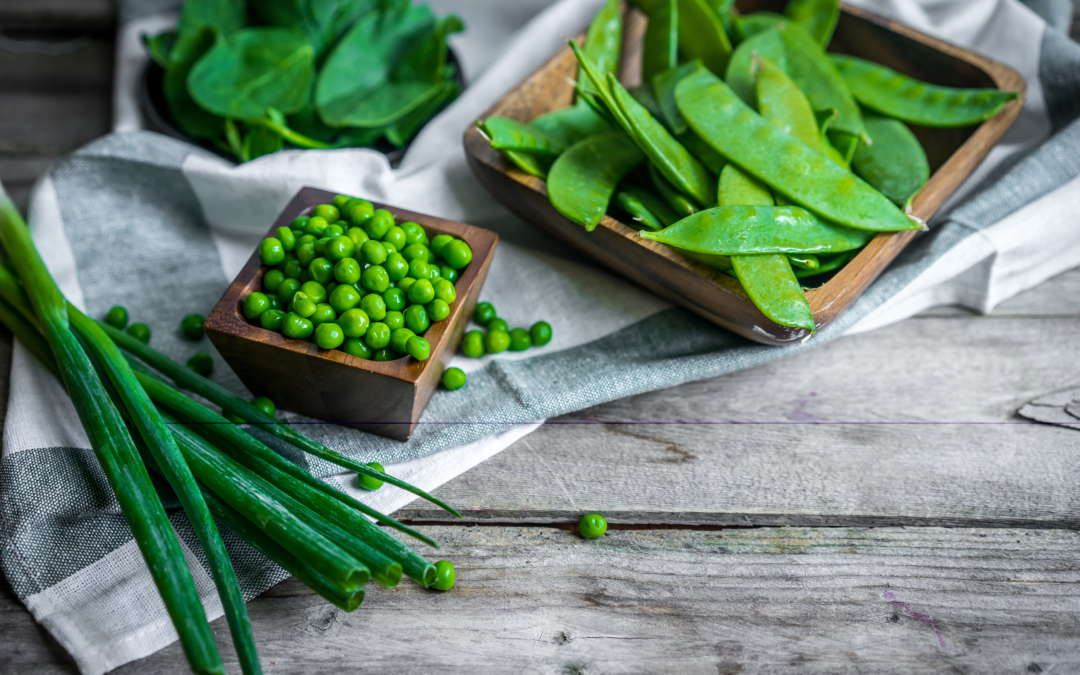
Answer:
[[[428,531],[457,567],[448,593],[372,589],[345,615],[289,580],[252,602],[268,672],[1080,669],[1076,532],[781,528],[586,542],[545,528]],[[55,663],[38,649],[26,645],[19,664]],[[173,645],[117,673],[185,667]]]

